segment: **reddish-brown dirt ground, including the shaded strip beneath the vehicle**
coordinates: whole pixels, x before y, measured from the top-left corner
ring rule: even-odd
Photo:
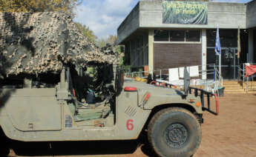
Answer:
[[[203,138],[194,157],[256,156],[256,95],[226,95],[220,98],[220,116],[204,114]],[[57,142],[13,144],[10,157],[145,157],[154,156],[148,144],[139,141]],[[52,149],[50,149],[50,147]]]

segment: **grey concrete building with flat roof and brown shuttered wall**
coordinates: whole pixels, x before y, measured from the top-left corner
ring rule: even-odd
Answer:
[[[240,63],[256,62],[256,0],[247,4],[206,2],[206,24],[163,23],[163,1],[140,1],[120,24],[118,43],[125,45],[131,67],[160,70],[216,64],[217,25],[222,46],[224,79],[237,78],[237,29],[240,27]],[[203,76],[206,79],[206,75]]]

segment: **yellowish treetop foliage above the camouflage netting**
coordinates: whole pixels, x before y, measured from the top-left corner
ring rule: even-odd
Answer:
[[[0,0],[1,12],[52,12],[65,11],[74,16],[73,8],[82,0]]]

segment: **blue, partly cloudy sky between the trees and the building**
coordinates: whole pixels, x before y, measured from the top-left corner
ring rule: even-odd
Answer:
[[[83,0],[76,7],[76,18],[85,24],[98,39],[116,35],[117,28],[139,0]],[[218,2],[246,3],[252,0],[214,0]]]

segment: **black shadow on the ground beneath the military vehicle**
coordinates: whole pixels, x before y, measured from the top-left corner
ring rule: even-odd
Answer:
[[[13,141],[4,136],[0,128],[1,157],[16,156],[93,156],[127,155],[141,150],[145,156],[156,157],[146,136],[128,141]],[[14,151],[11,151],[10,149]]]

